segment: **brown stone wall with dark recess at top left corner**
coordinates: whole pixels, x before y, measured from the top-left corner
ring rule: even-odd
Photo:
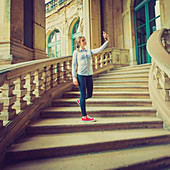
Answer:
[[[45,0],[0,1],[0,65],[47,58]]]

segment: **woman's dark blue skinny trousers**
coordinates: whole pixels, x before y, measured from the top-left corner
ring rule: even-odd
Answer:
[[[80,90],[80,107],[82,116],[86,116],[86,99],[92,97],[93,93],[93,76],[77,75]],[[87,92],[87,93],[86,93]]]

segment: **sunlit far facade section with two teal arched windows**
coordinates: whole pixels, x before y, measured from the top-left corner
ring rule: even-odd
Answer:
[[[55,2],[56,6],[50,9],[52,3],[55,5]],[[59,1],[46,3],[46,44],[49,57],[71,55],[74,34],[78,35],[80,31],[83,34],[82,1],[67,0],[61,4]]]

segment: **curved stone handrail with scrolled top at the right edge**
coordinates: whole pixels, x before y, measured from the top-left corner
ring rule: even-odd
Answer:
[[[158,116],[170,129],[170,30],[155,31],[147,42],[147,50],[152,57],[149,74],[149,91]]]

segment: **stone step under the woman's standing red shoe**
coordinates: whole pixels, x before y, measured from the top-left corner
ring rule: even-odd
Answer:
[[[107,131],[139,128],[162,128],[157,117],[98,117],[96,122],[82,122],[81,118],[39,119],[27,127],[27,135]]]

